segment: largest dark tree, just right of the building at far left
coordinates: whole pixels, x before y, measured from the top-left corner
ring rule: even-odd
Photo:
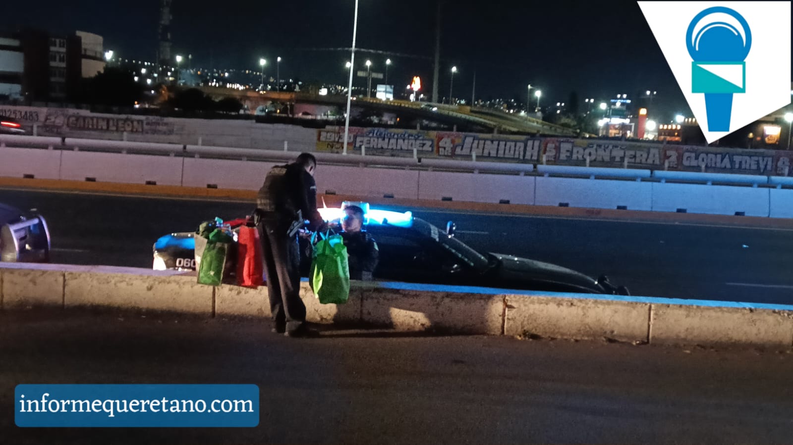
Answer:
[[[143,87],[125,70],[105,67],[83,84],[83,100],[91,105],[132,106],[143,97]]]

